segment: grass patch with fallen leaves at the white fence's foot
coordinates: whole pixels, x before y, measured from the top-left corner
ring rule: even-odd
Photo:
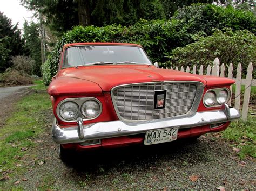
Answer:
[[[238,156],[256,158],[256,117],[245,121],[232,122],[230,127],[221,132],[221,136],[229,140],[233,147],[238,148]]]

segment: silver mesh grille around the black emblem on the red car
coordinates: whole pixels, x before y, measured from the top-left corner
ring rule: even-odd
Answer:
[[[197,89],[200,89],[199,92]],[[165,108],[154,109],[155,91],[164,90]],[[199,82],[140,83],[113,88],[112,101],[119,118],[127,121],[150,120],[185,115],[193,104],[198,107],[202,94]]]

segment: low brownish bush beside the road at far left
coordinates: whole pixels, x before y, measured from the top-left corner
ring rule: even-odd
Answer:
[[[0,83],[6,85],[32,84],[32,79],[27,74],[22,74],[15,69],[8,68],[0,75]]]

